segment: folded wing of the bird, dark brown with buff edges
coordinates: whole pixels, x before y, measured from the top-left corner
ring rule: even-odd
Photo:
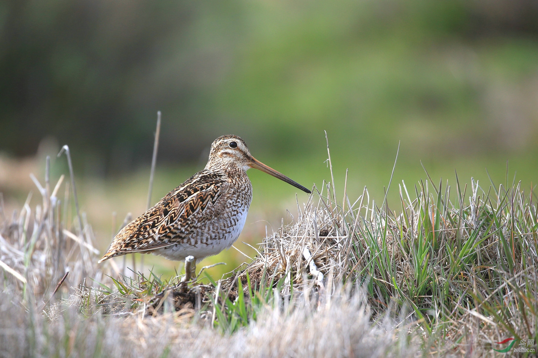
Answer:
[[[221,198],[229,183],[214,173],[197,173],[172,190],[155,206],[126,225],[114,238],[107,254],[110,257],[146,252],[182,242],[186,235],[200,227],[211,207],[218,212]],[[206,220],[204,220],[206,219]]]

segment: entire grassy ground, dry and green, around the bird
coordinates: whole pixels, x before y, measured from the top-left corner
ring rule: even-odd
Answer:
[[[519,184],[456,183],[454,204],[401,185],[398,213],[324,183],[235,275],[186,284],[98,267],[62,181],[0,211],[1,356],[477,357],[536,339],[536,198]]]

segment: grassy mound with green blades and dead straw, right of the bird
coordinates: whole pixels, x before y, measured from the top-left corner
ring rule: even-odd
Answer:
[[[448,184],[425,181],[412,199],[402,182],[397,210],[366,189],[354,204],[340,202],[323,185],[223,288],[270,273],[284,295],[303,290],[320,304],[320,292],[355,283],[373,317],[409,309],[412,331],[433,352],[489,356],[507,337],[536,342],[538,201],[521,183],[491,184],[461,188],[456,177],[451,196]]]

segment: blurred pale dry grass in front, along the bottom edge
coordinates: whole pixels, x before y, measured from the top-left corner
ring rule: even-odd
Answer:
[[[298,305],[291,313],[266,309],[256,322],[222,335],[193,316],[166,313],[119,318],[81,317],[70,306],[57,319],[13,307],[2,296],[4,356],[413,356],[407,344],[392,347],[391,328],[372,324],[364,295],[333,297],[313,309]],[[405,339],[403,340],[405,342]]]

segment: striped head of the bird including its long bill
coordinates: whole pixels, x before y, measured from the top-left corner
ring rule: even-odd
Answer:
[[[237,135],[223,135],[215,139],[211,144],[206,169],[214,167],[232,167],[244,171],[256,168],[310,194],[310,190],[307,188],[254,158],[250,154],[245,141],[237,137]]]

